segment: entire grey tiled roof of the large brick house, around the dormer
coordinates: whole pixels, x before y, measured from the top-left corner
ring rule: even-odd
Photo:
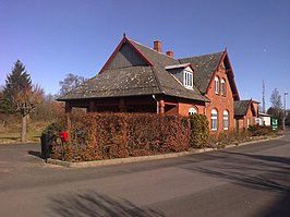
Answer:
[[[114,70],[104,69],[101,73],[88,80],[71,93],[60,97],[59,100],[165,94],[209,101],[201,94],[200,89],[202,89],[203,93],[206,92],[210,77],[223,52],[177,60],[134,40],[125,39],[129,40],[153,67],[130,67]],[[194,81],[198,88],[196,86],[193,86],[192,89],[185,88],[165,69],[168,65],[189,62],[197,70],[197,73],[194,73],[197,74]]]

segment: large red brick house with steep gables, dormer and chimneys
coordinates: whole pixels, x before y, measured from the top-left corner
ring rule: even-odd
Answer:
[[[100,72],[58,100],[65,111],[203,113],[212,132],[233,130],[240,100],[227,50],[176,59],[123,37]]]

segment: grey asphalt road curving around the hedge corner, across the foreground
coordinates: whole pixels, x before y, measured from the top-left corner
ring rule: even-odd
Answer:
[[[173,159],[72,169],[0,145],[0,216],[290,216],[290,134]]]

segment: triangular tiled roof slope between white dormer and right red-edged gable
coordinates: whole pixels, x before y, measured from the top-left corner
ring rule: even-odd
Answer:
[[[179,59],[180,63],[192,63],[194,69],[194,83],[205,94],[209,82],[216,71],[225,51],[198,57]]]

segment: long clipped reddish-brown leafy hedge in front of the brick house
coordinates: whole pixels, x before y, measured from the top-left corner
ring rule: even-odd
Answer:
[[[68,113],[56,123],[69,132],[64,160],[86,161],[189,149],[190,121],[144,113]],[[65,125],[65,126],[64,126]],[[61,158],[61,142],[52,158]]]

